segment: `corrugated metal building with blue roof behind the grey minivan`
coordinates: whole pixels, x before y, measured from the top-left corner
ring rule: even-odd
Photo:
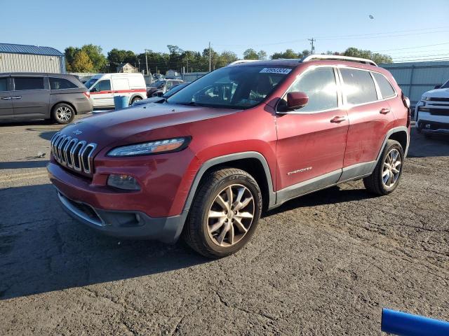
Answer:
[[[65,73],[65,55],[51,47],[0,43],[1,72]]]

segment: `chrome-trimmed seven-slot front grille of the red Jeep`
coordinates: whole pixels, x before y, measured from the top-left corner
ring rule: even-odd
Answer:
[[[51,153],[58,163],[75,172],[93,173],[93,151],[97,144],[69,137],[59,132],[51,138]]]

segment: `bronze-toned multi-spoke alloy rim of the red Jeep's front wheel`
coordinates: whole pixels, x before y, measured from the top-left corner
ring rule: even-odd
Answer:
[[[253,223],[253,194],[241,184],[218,193],[208,212],[208,235],[218,246],[232,246],[246,235]]]

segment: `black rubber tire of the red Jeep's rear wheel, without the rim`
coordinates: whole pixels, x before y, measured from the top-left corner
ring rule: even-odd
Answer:
[[[389,155],[389,153],[391,153],[391,151],[394,150],[396,150],[399,153],[401,165],[399,169],[397,169],[399,173],[396,178],[396,181],[391,186],[387,186],[387,184],[384,183],[382,176],[384,173],[384,162],[385,160],[387,160],[387,155]],[[399,180],[401,179],[403,163],[404,163],[404,152],[401,144],[399,144],[398,141],[395,140],[387,140],[387,144],[385,144],[384,150],[382,151],[382,155],[380,155],[380,160],[379,162],[377,162],[373,174],[363,179],[363,184],[365,185],[365,188],[370,193],[374,193],[376,195],[388,195],[389,193],[392,193],[393,190],[395,190],[396,187],[398,186]]]

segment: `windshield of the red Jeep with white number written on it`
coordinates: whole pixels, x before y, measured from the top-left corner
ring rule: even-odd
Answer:
[[[289,66],[225,66],[195,80],[167,102],[247,109],[262,102],[292,69]]]

